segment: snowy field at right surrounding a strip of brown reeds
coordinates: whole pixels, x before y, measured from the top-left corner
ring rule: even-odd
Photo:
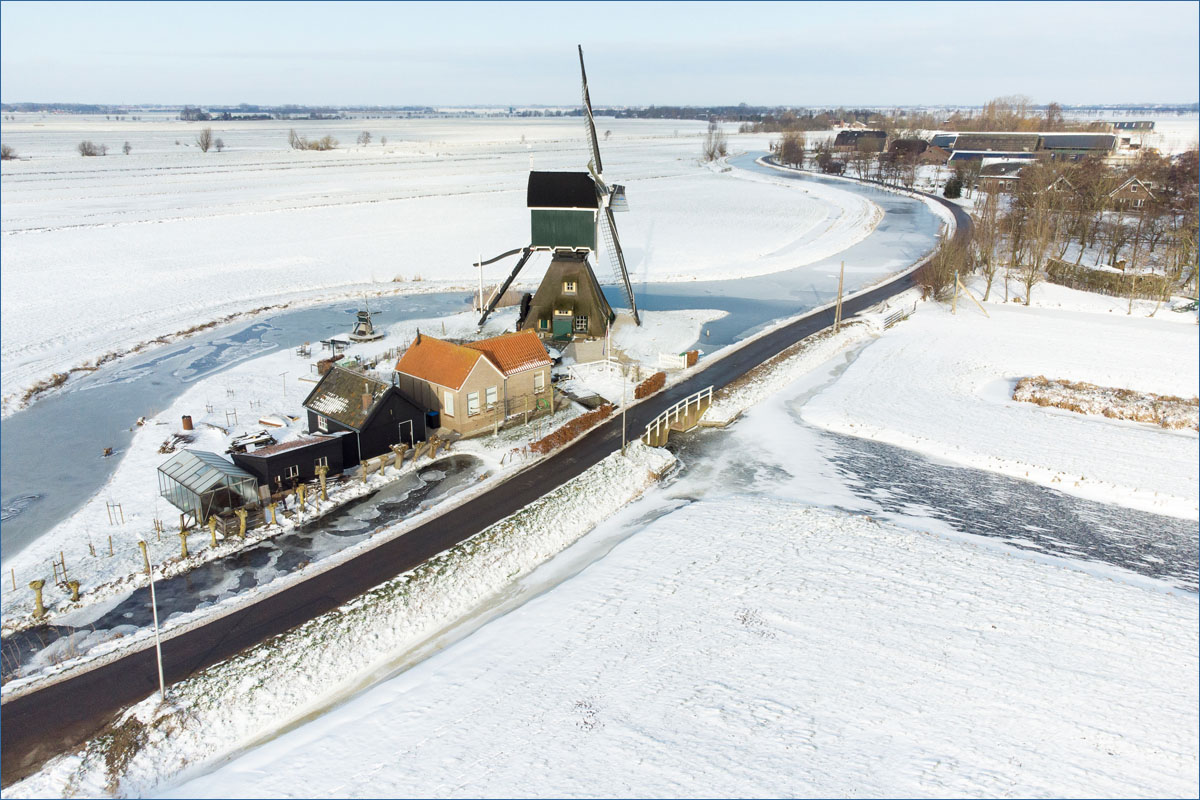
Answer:
[[[1194,314],[1111,313],[1110,297],[1052,284],[1033,296],[1040,307],[989,303],[990,319],[965,300],[956,315],[922,303],[805,405],[805,421],[1102,503],[1196,518],[1194,432],[1012,399],[1019,378],[1038,374],[1195,397],[1198,337],[1194,324],[1180,324]]]

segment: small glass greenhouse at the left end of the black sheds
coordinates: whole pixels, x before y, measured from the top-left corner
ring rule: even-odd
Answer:
[[[257,505],[258,483],[216,453],[181,450],[158,465],[158,494],[202,524],[222,511]]]

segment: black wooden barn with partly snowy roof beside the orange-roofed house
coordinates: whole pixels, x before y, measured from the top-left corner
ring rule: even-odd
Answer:
[[[346,434],[340,439],[347,467],[383,455],[390,445],[425,439],[425,411],[391,384],[360,372],[331,368],[304,407],[308,411],[308,433]]]

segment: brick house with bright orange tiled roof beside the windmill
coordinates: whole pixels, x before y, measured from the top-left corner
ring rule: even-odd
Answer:
[[[533,331],[455,344],[418,333],[396,362],[396,385],[469,437],[550,407],[551,359]]]

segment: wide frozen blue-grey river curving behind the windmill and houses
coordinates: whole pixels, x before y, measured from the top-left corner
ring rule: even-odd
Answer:
[[[830,182],[760,167],[755,163],[757,155],[732,162],[782,180]],[[884,210],[875,231],[857,245],[835,257],[762,277],[635,284],[638,306],[647,311],[728,312],[706,326],[707,335],[698,347],[707,353],[776,319],[828,302],[836,291],[842,260],[846,288],[852,291],[904,269],[932,246],[942,223],[924,203],[848,181],[832,182],[868,197]],[[610,290],[617,291],[616,287]],[[617,301],[617,295],[612,296]],[[457,313],[468,302],[462,293],[439,293],[382,297],[372,306],[378,303],[382,324],[392,324]],[[5,475],[0,489],[0,553],[11,557],[19,552],[98,492],[131,440],[139,416],[152,417],[193,381],[234,363],[343,335],[353,319],[350,312],[349,303],[338,302],[216,329],[116,362],[5,420],[0,423],[0,468]],[[113,457],[101,457],[106,447],[114,449]]]

